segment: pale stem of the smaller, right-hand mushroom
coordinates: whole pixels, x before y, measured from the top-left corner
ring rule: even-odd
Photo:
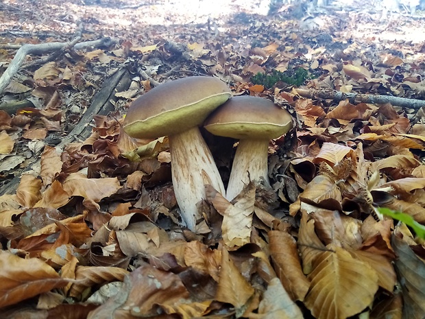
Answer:
[[[226,199],[233,200],[250,180],[269,185],[267,152],[269,140],[241,139],[234,155]]]

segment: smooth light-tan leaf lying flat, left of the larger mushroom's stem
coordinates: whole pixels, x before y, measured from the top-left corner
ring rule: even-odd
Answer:
[[[81,173],[69,175],[63,186],[69,196],[82,196],[95,202],[111,196],[121,187],[118,178],[87,178]]]

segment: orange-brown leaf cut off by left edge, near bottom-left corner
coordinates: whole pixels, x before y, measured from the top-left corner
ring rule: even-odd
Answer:
[[[0,282],[1,308],[63,287],[69,280],[40,259],[22,259],[0,250]]]

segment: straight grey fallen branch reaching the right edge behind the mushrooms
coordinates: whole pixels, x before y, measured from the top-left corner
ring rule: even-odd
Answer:
[[[401,106],[403,108],[415,108],[419,110],[425,107],[425,100],[408,99],[406,97],[396,97],[390,95],[372,95],[360,93],[342,93],[337,91],[322,91],[322,90],[304,90],[302,88],[295,89],[302,97],[313,99],[319,97],[321,99],[334,99],[335,101],[343,101],[348,99],[350,103],[371,103],[371,104],[386,104],[393,106]]]

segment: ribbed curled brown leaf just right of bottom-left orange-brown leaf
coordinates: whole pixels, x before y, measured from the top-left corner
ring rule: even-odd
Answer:
[[[69,290],[69,296],[81,298],[84,290],[94,285],[102,285],[111,281],[123,281],[127,270],[118,267],[77,266],[75,270],[76,283]]]

